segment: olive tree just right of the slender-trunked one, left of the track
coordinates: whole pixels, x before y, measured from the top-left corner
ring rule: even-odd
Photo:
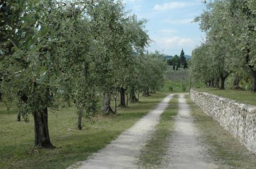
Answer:
[[[88,9],[91,31],[98,45],[97,57],[94,58],[99,89],[103,92],[102,110],[106,114],[113,113],[110,106],[111,91],[114,86],[114,65],[121,59],[123,23],[125,22],[124,6],[121,1],[103,0]]]

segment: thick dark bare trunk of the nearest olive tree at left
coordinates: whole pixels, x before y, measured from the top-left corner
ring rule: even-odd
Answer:
[[[54,149],[51,144],[48,130],[48,110],[47,107],[40,112],[33,111],[34,129],[35,129],[35,147]]]

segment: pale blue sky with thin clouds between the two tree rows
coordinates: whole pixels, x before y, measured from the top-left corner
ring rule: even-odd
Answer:
[[[148,20],[146,30],[154,40],[149,51],[158,50],[168,55],[178,54],[183,48],[191,54],[205,35],[198,23],[191,23],[203,11],[201,0],[123,0],[126,9],[138,18]]]

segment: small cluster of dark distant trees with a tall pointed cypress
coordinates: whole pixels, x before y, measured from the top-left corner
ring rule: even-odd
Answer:
[[[178,68],[180,67],[182,67],[183,69],[187,69],[188,64],[184,50],[181,50],[180,57],[178,57],[178,55],[175,54],[172,59],[167,60],[167,64],[173,66],[173,70],[178,70]]]

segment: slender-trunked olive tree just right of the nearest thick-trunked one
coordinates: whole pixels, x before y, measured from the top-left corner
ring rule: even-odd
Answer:
[[[72,100],[77,108],[78,130],[82,129],[82,118],[92,120],[97,110],[97,79],[93,63],[97,45],[93,41],[90,20],[86,17],[87,9],[92,5],[79,1],[67,4],[63,10],[66,24],[60,33],[66,39],[61,47],[67,58],[61,89],[68,104]]]

